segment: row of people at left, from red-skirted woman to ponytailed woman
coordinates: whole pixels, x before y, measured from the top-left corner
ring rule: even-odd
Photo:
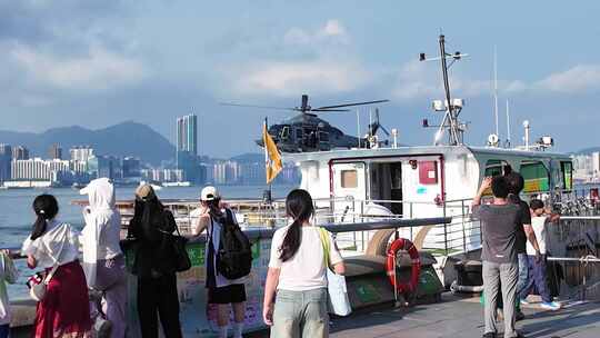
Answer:
[[[46,284],[38,302],[34,337],[127,336],[127,272],[121,249],[121,217],[114,187],[96,179],[81,190],[89,198],[81,231],[60,220],[59,203],[51,195],[38,196],[32,209],[36,221],[21,252],[30,269],[41,269],[33,284]],[[137,309],[143,338],[182,337],[177,291],[177,262],[172,235],[173,215],[161,203],[151,186],[136,190],[134,212],[126,243],[133,252],[131,274],[137,276]],[[344,266],[330,233],[323,237],[311,219],[310,195],[292,190],[286,200],[288,227],[276,231],[264,291],[263,320],[271,337],[328,337],[327,269],[343,275]],[[218,270],[217,252],[226,222],[237,225],[234,213],[214,187],[201,191],[192,236],[207,231],[206,287],[208,302],[218,308],[219,337],[229,335],[229,306],[233,309],[233,337],[242,337],[246,317],[244,278],[230,280]],[[9,335],[10,309],[0,258],[0,338]],[[328,255],[328,257],[326,257]],[[11,281],[11,280],[9,280]],[[2,292],[3,291],[3,292]]]

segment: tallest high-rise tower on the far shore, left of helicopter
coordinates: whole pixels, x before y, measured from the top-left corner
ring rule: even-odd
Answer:
[[[203,183],[204,175],[198,158],[198,117],[188,115],[177,119],[177,169],[186,180]]]

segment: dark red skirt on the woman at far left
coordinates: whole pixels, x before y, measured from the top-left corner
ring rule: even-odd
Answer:
[[[47,272],[50,269],[47,269]],[[92,321],[86,276],[79,261],[60,266],[38,302],[34,338],[88,338]]]

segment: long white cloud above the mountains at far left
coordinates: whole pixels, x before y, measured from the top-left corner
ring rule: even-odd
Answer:
[[[10,56],[34,84],[68,90],[106,90],[137,83],[147,70],[137,60],[92,46],[84,56],[58,57],[23,44]]]

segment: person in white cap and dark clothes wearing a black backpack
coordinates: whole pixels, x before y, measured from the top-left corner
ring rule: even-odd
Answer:
[[[219,337],[228,337],[229,305],[231,304],[234,315],[233,337],[241,338],[246,317],[244,278],[227,279],[216,268],[216,252],[219,250],[222,227],[230,221],[237,225],[236,215],[221,200],[221,195],[212,186],[204,187],[200,192],[200,208],[194,210],[194,213],[199,218],[196,228],[192,229],[193,235],[200,236],[204,229],[208,231],[208,243],[204,254],[204,257],[207,257],[208,301],[218,308]],[[228,217],[230,217],[229,220]]]

